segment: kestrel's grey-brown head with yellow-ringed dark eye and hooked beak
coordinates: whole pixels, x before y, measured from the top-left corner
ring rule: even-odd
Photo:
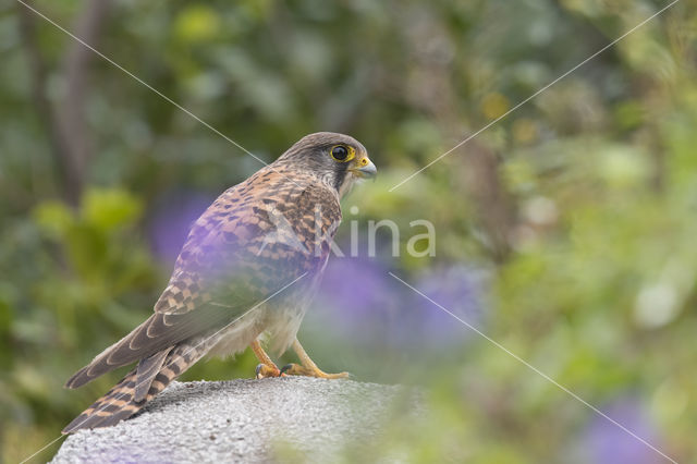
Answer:
[[[366,148],[355,138],[317,132],[301,138],[279,159],[320,179],[342,197],[357,179],[372,178],[377,169]]]

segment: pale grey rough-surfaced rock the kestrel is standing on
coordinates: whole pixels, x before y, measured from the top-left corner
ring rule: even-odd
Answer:
[[[70,436],[52,462],[268,462],[290,449],[329,462],[378,434],[402,393],[307,377],[173,382],[135,417]]]

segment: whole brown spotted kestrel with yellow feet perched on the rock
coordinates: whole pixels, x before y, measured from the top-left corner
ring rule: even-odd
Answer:
[[[327,266],[340,200],[357,180],[376,173],[358,141],[318,132],[223,192],[193,223],[152,315],[65,387],[137,365],[62,432],[127,419],[199,359],[248,346],[259,359],[259,379],[347,377],[319,369],[296,335]],[[276,354],[292,346],[299,364],[279,368],[267,341]]]

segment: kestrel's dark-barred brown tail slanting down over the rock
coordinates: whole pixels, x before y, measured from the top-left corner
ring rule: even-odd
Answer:
[[[126,374],[107,394],[68,424],[63,434],[83,428],[109,427],[127,419],[205,353],[199,346],[182,343],[168,350],[167,355],[160,357],[157,367],[151,362],[148,363],[148,359],[142,361],[138,367]]]

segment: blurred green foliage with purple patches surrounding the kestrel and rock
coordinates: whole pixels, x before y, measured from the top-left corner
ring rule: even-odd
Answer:
[[[331,260],[299,339],[327,371],[421,386],[429,408],[347,459],[665,462],[391,271],[697,460],[695,1],[392,191],[668,1],[32,4],[267,162],[317,131],[368,147],[380,175],[339,234],[345,249],[356,221],[360,253]],[[0,62],[0,447],[17,462],[124,374],[62,388],[149,315],[191,221],[261,164],[14,1]],[[398,257],[387,228],[367,256],[380,219]],[[436,256],[406,253],[417,219]]]

